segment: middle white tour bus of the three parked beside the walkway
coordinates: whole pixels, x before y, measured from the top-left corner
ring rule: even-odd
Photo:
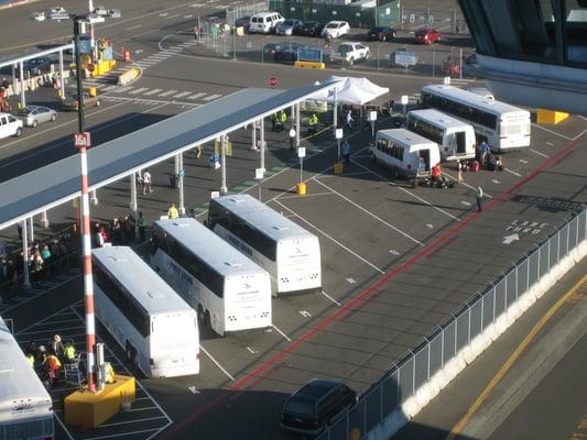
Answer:
[[[271,280],[195,219],[159,220],[151,264],[218,334],[271,327]]]

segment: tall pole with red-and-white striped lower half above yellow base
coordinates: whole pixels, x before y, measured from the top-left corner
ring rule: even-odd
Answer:
[[[86,148],[90,146],[89,133],[84,124],[84,89],[81,68],[79,66],[79,34],[84,33],[86,21],[74,16],[75,64],[77,79],[77,123],[78,132],[74,134],[74,145],[79,148],[81,160],[81,264],[84,271],[84,298],[86,308],[86,350],[88,391],[96,393],[96,323],[94,318],[94,280],[91,276],[91,242],[89,232],[89,198],[88,198],[88,161]]]

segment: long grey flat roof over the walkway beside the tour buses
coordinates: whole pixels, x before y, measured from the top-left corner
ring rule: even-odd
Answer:
[[[328,82],[298,89],[243,89],[89,148],[89,189],[109,185],[330,87]],[[3,182],[0,184],[0,229],[79,195],[77,154]]]

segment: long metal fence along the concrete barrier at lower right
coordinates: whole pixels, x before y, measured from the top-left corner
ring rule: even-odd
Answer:
[[[482,293],[410,350],[340,420],[317,440],[361,439],[425,385],[463,348],[494,323],[517,299],[586,239],[587,210],[533,246]]]

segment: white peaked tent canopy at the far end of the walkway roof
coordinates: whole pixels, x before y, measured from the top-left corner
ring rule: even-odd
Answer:
[[[330,76],[327,82],[335,82],[337,101],[352,106],[365,106],[374,99],[389,94],[389,88],[379,87],[367,78],[356,78],[351,76]],[[318,81],[316,81],[319,84]],[[309,97],[309,99],[326,100],[334,102],[334,89],[323,89]]]

